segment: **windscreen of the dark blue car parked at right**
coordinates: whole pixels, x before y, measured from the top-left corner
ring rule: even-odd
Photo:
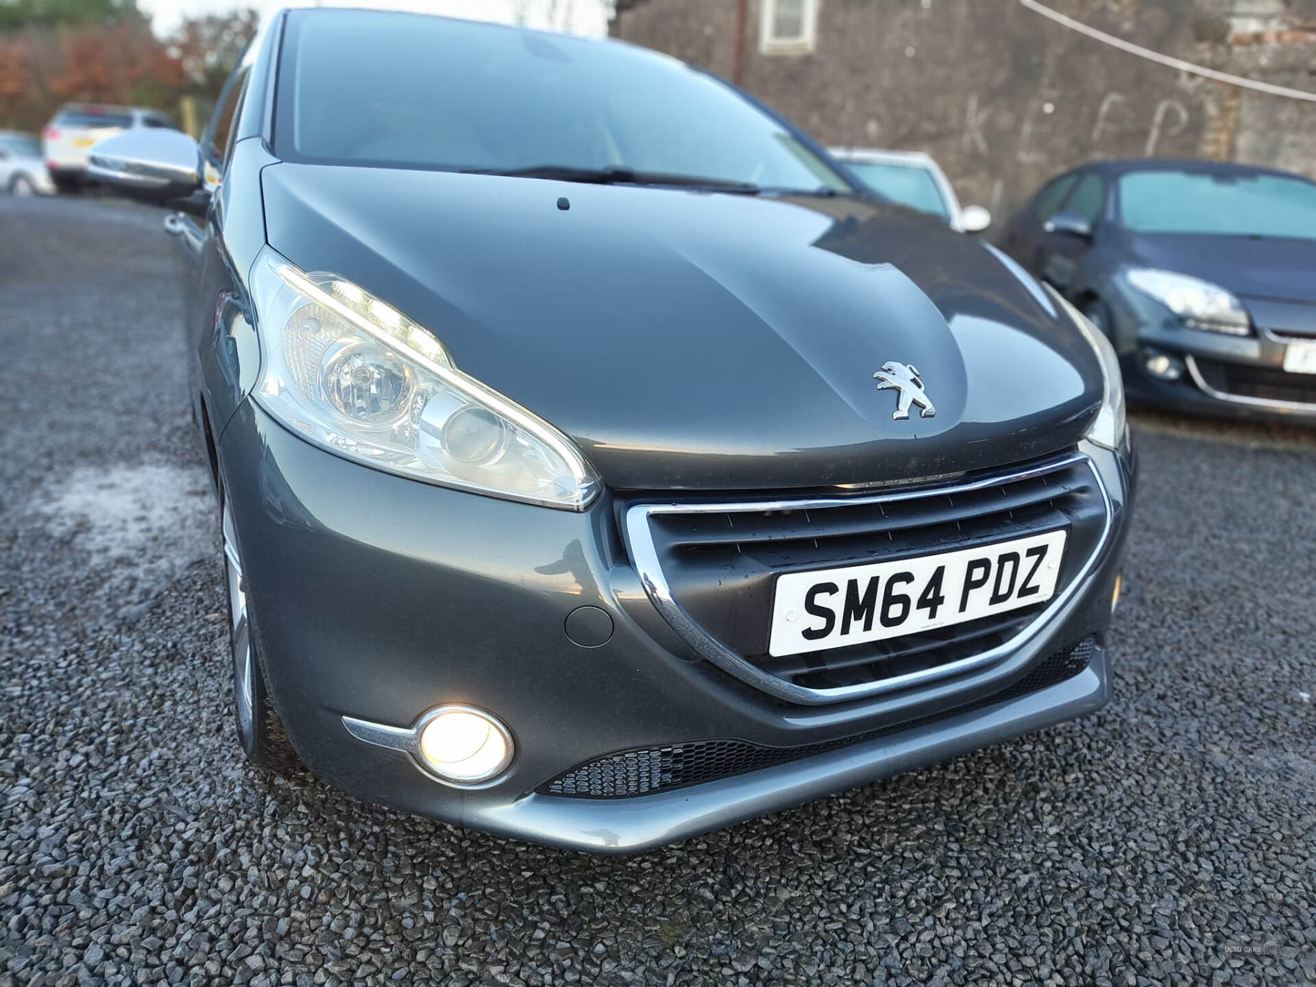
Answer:
[[[1316,240],[1316,184],[1302,179],[1140,171],[1119,190],[1120,218],[1137,233]]]

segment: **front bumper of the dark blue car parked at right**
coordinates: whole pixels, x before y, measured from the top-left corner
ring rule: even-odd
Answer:
[[[1316,422],[1316,374],[1283,368],[1290,345],[1316,343],[1316,305],[1249,300],[1254,334],[1227,336],[1180,325],[1117,279],[1107,299],[1130,401],[1219,417]],[[1177,380],[1148,370],[1155,354],[1177,361]]]

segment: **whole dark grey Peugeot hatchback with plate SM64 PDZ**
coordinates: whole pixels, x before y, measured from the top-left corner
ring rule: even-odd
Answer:
[[[93,167],[178,211],[253,763],[628,851],[1107,700],[1109,345],[725,83],[288,11]]]

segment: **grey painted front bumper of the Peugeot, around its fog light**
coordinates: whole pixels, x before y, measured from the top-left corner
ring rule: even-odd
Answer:
[[[1042,633],[986,669],[825,707],[766,696],[694,654],[645,595],[608,496],[571,513],[482,497],[350,463],[247,401],[220,463],[250,580],[263,671],[308,767],[362,799],[536,842],[634,851],[883,778],[1100,707],[1100,647],[1132,463],[1092,450],[1111,537]],[[582,607],[612,634],[567,634]],[[576,634],[579,638],[579,634]],[[1058,649],[1095,637],[1057,684],[991,697]],[[436,782],[411,755],[366,744],[343,716],[407,726],[442,703],[487,709],[517,745],[496,782]],[[705,738],[836,746],[788,763],[622,799],[546,795],[550,779],[612,751]]]

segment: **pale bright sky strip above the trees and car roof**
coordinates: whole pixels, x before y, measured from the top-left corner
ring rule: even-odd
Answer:
[[[309,5],[311,0],[296,0]],[[151,14],[155,34],[172,33],[183,17],[232,11],[234,0],[137,0],[137,7]],[[261,9],[276,9],[283,0],[247,0]],[[336,7],[390,7],[429,11],[451,17],[471,17],[504,22],[522,22],[532,28],[570,30],[601,37],[608,33],[609,0],[328,0]]]

